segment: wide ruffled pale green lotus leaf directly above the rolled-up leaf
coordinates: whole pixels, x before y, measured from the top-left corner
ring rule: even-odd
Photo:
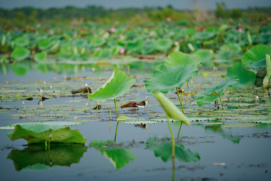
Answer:
[[[155,69],[152,77],[145,81],[145,86],[150,93],[159,90],[162,93],[168,93],[176,87],[180,88],[191,77],[198,75],[198,68],[194,65],[161,65]]]

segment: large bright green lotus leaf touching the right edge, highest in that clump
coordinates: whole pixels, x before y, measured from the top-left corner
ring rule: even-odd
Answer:
[[[248,69],[258,70],[266,67],[265,54],[271,54],[271,48],[266,45],[255,45],[249,48],[242,56],[242,64]]]

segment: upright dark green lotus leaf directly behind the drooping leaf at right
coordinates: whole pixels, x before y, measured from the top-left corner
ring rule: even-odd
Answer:
[[[226,80],[232,76],[238,76],[239,84],[233,85],[233,89],[250,88],[256,81],[256,75],[248,71],[242,64],[235,63],[232,67],[227,68]]]

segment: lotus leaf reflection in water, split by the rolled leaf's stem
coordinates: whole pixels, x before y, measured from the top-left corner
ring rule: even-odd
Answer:
[[[172,143],[168,139],[161,141],[158,138],[149,138],[146,148],[153,150],[155,157],[160,157],[164,162],[172,160]],[[185,149],[182,144],[175,144],[175,158],[182,162],[196,162],[201,159],[198,153]]]

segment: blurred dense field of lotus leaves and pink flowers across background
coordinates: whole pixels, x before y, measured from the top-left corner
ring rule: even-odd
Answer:
[[[91,58],[155,58],[174,51],[200,56],[200,63],[213,66],[241,60],[253,45],[271,44],[271,25],[250,20],[188,23],[161,22],[130,27],[86,22],[68,25],[25,25],[0,28],[0,62],[34,58],[86,61]]]

